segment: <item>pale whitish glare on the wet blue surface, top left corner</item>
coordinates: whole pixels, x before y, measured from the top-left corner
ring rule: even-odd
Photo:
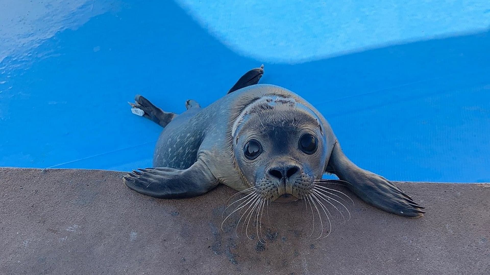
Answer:
[[[65,29],[76,29],[92,17],[120,9],[119,0],[2,0],[0,3],[0,62],[9,56],[9,65],[26,65],[49,57],[54,50],[37,51],[46,39]]]

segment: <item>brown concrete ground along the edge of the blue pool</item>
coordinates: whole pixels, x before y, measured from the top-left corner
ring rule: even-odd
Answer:
[[[160,200],[122,175],[0,168],[0,274],[490,274],[488,184],[398,183],[426,206],[419,219],[348,192],[352,218],[344,225],[334,214],[322,240],[309,237],[304,204],[273,204],[261,245],[230,223],[220,229],[230,188]]]

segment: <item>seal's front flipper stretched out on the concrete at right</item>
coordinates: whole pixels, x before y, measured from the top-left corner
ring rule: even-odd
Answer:
[[[335,143],[328,162],[327,172],[349,182],[347,187],[368,204],[384,211],[406,217],[421,217],[424,207],[415,203],[387,179],[359,168],[343,154],[340,144]]]

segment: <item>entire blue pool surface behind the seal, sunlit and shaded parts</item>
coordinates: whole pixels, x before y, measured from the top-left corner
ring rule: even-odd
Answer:
[[[490,1],[206,2],[0,4],[0,166],[149,167],[135,94],[180,113],[264,64],[359,166],[490,182]]]

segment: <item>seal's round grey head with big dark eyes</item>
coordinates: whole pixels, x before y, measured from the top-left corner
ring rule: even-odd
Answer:
[[[292,97],[255,99],[238,115],[232,137],[242,178],[262,199],[303,199],[323,175],[327,143],[320,119]]]

